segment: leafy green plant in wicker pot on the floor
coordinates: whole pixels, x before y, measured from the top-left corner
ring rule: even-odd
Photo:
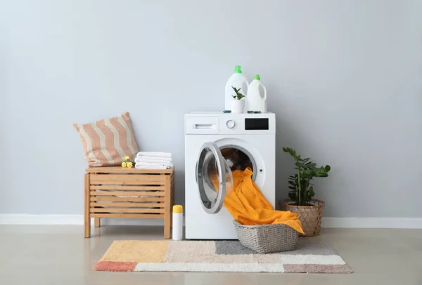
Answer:
[[[288,178],[289,199],[279,201],[279,206],[282,211],[298,214],[305,236],[315,236],[321,230],[325,204],[324,201],[312,199],[315,195],[312,180],[318,177],[328,177],[331,167],[329,165],[316,167],[311,159],[302,159],[290,147],[283,147],[283,151],[288,152],[295,159],[296,173]]]

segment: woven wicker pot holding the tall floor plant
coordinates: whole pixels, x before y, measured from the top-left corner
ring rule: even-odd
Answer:
[[[321,231],[321,220],[324,214],[324,201],[311,199],[309,204],[312,206],[295,206],[290,199],[279,201],[281,211],[290,211],[297,213],[302,222],[302,229],[305,234],[300,234],[304,237],[313,237]]]

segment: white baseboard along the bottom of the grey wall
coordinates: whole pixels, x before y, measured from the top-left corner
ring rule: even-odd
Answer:
[[[164,225],[156,219],[103,219],[103,225]],[[0,225],[83,225],[83,215],[0,214]],[[94,224],[94,219],[91,219]],[[422,218],[331,218],[322,227],[422,229]]]

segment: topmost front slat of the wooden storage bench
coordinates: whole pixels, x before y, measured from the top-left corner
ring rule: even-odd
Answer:
[[[119,174],[91,174],[90,183],[93,184],[122,184],[122,185],[162,185],[166,175],[119,175]]]

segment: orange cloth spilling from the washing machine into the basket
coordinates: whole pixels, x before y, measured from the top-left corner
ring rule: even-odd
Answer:
[[[242,225],[285,224],[303,234],[298,215],[274,210],[253,182],[252,174],[249,167],[245,171],[233,171],[234,187],[224,199],[231,216]]]

